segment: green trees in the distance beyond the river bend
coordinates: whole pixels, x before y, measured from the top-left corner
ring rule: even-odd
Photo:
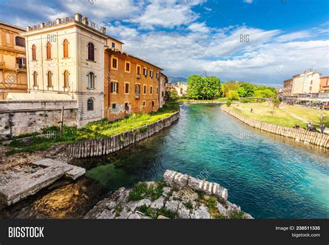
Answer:
[[[187,85],[189,99],[211,100],[226,97],[238,100],[246,97],[273,98],[276,96],[274,87],[237,81],[221,83],[216,76],[192,75],[187,78]]]

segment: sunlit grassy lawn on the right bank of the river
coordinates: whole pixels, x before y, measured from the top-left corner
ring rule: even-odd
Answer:
[[[225,106],[225,105],[224,105]],[[253,108],[253,112],[251,112]],[[320,126],[320,110],[305,108],[296,105],[285,105],[285,108],[274,108],[268,102],[264,103],[239,103],[230,105],[230,110],[244,115],[251,119],[265,121],[271,124],[287,126],[289,128],[299,124],[301,128],[306,128],[307,123],[311,122],[312,126]],[[322,111],[322,123],[329,128],[329,112]]]

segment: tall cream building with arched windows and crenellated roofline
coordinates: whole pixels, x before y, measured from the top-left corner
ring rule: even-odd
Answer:
[[[77,125],[104,117],[104,51],[122,43],[87,17],[56,19],[28,26],[26,33],[28,92],[67,94],[77,101]]]

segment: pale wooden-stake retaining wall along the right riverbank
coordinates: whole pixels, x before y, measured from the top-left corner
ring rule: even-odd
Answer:
[[[316,133],[316,132],[310,132],[310,131],[303,130],[303,129],[288,128],[288,127],[279,126],[276,124],[269,124],[264,121],[250,119],[248,117],[239,115],[236,112],[233,112],[232,110],[228,109],[226,106],[221,106],[221,110],[223,110],[224,112],[228,112],[228,114],[239,119],[240,121],[243,121],[245,124],[252,126],[253,128],[258,128],[260,130],[263,130],[263,131],[266,131],[269,133],[274,133],[276,135],[289,137],[296,141],[307,142],[307,143],[314,144],[317,146],[329,148],[329,135]]]

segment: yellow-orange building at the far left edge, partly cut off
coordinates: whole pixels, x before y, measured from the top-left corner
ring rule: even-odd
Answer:
[[[0,99],[7,94],[26,93],[25,29],[0,22]]]

